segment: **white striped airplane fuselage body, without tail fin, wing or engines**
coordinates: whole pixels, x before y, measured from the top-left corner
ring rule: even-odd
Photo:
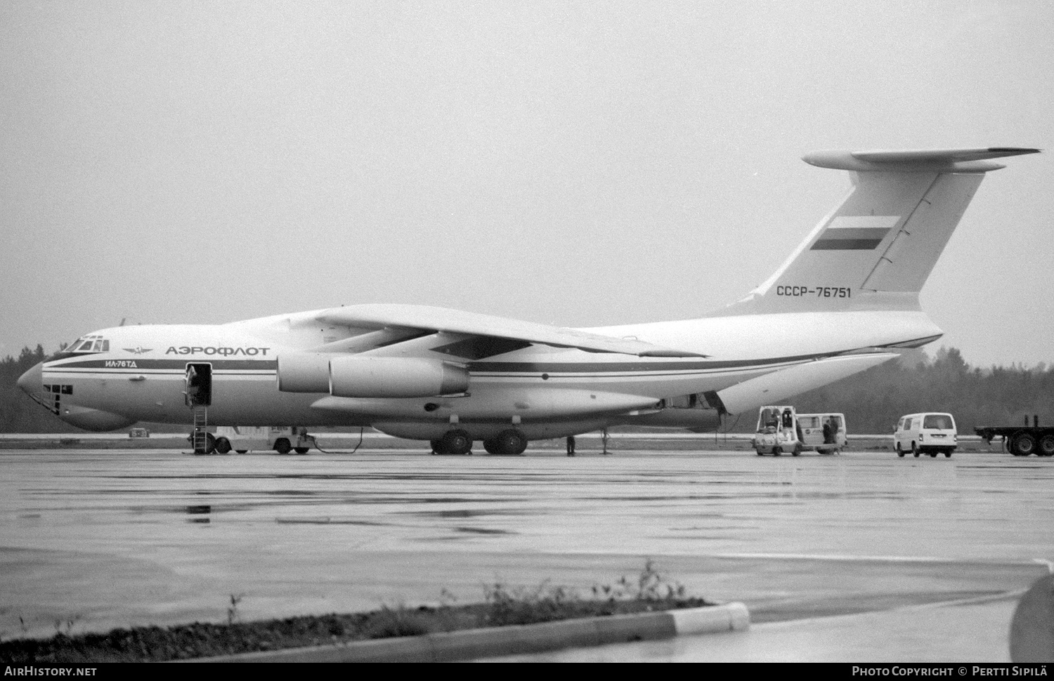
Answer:
[[[314,314],[101,329],[96,335],[109,340],[109,352],[60,353],[41,366],[41,383],[69,386],[59,401],[60,418],[99,429],[136,421],[190,423],[187,368],[203,363],[212,372],[209,422],[215,425],[374,425],[428,439],[450,423],[475,423],[489,432],[511,421],[531,438],[562,437],[627,422],[642,412],[653,414],[664,398],[720,393],[796,365],[940,334],[920,312],[715,317],[584,329],[707,357],[631,357],[534,345],[467,362],[470,387],[460,396],[344,398],[280,392],[279,356],[333,341],[332,328],[305,324]],[[426,341],[434,344],[434,337],[421,340]],[[408,346],[419,354],[414,342],[374,354],[397,357]],[[758,397],[761,402],[766,398]],[[91,410],[114,418],[94,422]]]

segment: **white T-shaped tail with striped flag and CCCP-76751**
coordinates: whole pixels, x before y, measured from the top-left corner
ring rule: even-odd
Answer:
[[[853,191],[749,296],[711,316],[917,309],[918,293],[989,171],[1033,148],[818,152]]]

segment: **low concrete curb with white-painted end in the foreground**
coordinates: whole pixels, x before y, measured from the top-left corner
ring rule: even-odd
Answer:
[[[339,645],[241,653],[187,662],[452,662],[567,647],[650,641],[675,636],[743,632],[750,614],[742,603],[519,624],[408,636]]]

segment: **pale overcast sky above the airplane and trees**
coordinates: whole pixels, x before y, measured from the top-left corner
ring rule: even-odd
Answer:
[[[0,356],[365,302],[658,321],[841,200],[808,152],[1054,147],[1054,3],[8,0],[0,94]],[[922,292],[975,365],[1054,361],[1052,155]]]

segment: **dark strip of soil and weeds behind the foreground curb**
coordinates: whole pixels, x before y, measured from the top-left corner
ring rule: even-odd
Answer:
[[[0,642],[0,661],[7,664],[162,662],[715,605],[703,598],[686,596],[684,586],[667,581],[655,569],[650,560],[636,579],[622,577],[614,584],[594,585],[585,598],[574,589],[548,582],[535,587],[512,587],[504,582],[494,582],[484,586],[482,603],[458,605],[444,592],[438,606],[385,606],[369,613],[256,622],[238,621],[237,606],[241,599],[240,595],[231,596],[227,623],[195,622],[164,628],[148,626],[76,636],[60,632],[43,640],[15,639]]]

